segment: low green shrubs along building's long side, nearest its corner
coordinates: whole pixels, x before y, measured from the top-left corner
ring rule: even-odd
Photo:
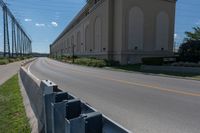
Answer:
[[[78,58],[78,59],[75,59],[74,63],[78,65],[86,65],[86,66],[93,66],[93,67],[106,66],[106,62],[104,60],[91,59],[91,58]]]

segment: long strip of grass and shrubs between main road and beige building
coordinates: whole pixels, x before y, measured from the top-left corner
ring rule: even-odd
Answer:
[[[70,62],[72,63],[71,57],[59,57],[54,58],[56,60],[62,61],[62,62]],[[117,62],[113,61],[105,61],[95,58],[75,58],[74,64],[78,65],[84,65],[84,66],[92,66],[92,67],[109,67],[110,70],[115,71],[126,71],[126,72],[141,72],[144,74],[157,74],[160,76],[176,76],[176,77],[184,77],[188,79],[195,79],[200,80],[199,74],[190,74],[190,73],[175,73],[175,72],[164,72],[164,71],[142,71],[140,69],[141,64],[133,64],[133,65],[119,65]]]

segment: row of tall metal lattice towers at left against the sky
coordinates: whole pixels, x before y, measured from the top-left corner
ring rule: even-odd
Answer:
[[[3,0],[0,0],[0,6],[3,11],[4,57],[30,54],[32,52],[30,37],[26,34]],[[11,42],[8,22],[9,18],[11,20]]]

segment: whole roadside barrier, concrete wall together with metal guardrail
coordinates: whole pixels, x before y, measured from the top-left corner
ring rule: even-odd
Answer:
[[[20,77],[38,119],[39,132],[45,133],[128,133],[119,124],[97,112],[77,97],[63,92],[56,84],[40,84],[20,69]]]

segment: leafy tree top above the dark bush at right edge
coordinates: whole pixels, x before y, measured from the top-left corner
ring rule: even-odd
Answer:
[[[200,27],[193,27],[194,32],[185,32],[185,41],[199,41],[200,40]]]

